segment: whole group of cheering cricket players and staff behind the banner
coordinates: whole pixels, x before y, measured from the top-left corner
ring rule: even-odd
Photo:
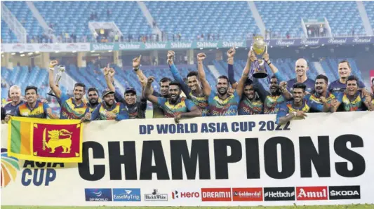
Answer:
[[[54,81],[54,71],[58,62],[52,60],[49,68],[49,86],[60,104],[60,116],[53,114],[45,101],[39,100],[38,89],[27,86],[25,100],[21,100],[21,90],[12,86],[9,90],[11,102],[1,107],[1,120],[8,122],[11,116],[25,116],[50,119],[80,119],[81,121],[145,119],[147,100],[153,104],[154,118],[171,118],[179,123],[180,119],[196,116],[234,116],[251,114],[276,114],[276,122],[287,123],[293,119],[305,119],[308,112],[352,112],[373,111],[374,97],[356,76],[351,74],[348,61],[338,64],[340,78],[328,85],[328,78],[320,74],[315,81],[307,77],[309,67],[305,59],[295,62],[295,79],[285,81],[281,72],[270,62],[269,54],[262,56],[263,62],[272,70],[269,91],[262,83],[250,75],[253,62],[258,60],[251,50],[246,67],[239,81],[234,79],[234,55],[227,51],[228,76],[217,79],[215,89],[206,80],[203,69],[204,53],[197,55],[197,72],[189,72],[187,79],[180,76],[173,63],[175,53],[168,51],[168,64],[173,74],[159,81],[160,92],[152,88],[154,76],[146,77],[140,69],[140,58],[133,59],[133,69],[142,84],[138,95],[134,88],[126,88],[119,93],[114,83],[115,71],[109,65],[104,68],[107,89],[101,94],[96,88],[88,88],[84,83],[75,83],[74,96],[62,93]],[[255,70],[256,72],[256,70]],[[249,78],[248,78],[249,77]],[[374,79],[371,81],[374,93]],[[231,85],[231,88],[230,88]],[[84,102],[84,95],[88,102]],[[183,95],[184,94],[184,95]],[[183,95],[183,96],[182,96]]]

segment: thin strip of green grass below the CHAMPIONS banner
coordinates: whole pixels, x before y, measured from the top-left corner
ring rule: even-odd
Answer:
[[[258,206],[258,207],[249,207],[249,206],[243,206],[243,207],[114,207],[114,206],[86,206],[86,207],[78,207],[78,206],[1,206],[1,208],[4,209],[32,209],[32,208],[40,208],[40,209],[70,209],[70,208],[79,208],[79,209],[149,209],[149,208],[166,208],[166,209],[193,209],[193,208],[199,208],[199,209],[234,209],[234,208],[240,208],[240,209],[288,209],[288,208],[302,208],[302,209],[369,209],[374,208],[374,205],[300,205],[300,206],[275,206],[275,207],[265,207],[265,206]]]

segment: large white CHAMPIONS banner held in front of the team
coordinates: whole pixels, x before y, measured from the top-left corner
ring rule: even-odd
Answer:
[[[1,204],[374,203],[374,112],[308,114],[286,126],[274,119],[93,121],[84,127],[79,166],[19,161],[17,170],[1,149],[1,177],[11,179],[1,180]],[[1,130],[6,148],[6,125]]]

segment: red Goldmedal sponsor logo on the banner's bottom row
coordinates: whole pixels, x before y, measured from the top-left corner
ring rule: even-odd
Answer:
[[[232,201],[262,201],[262,188],[232,188]]]

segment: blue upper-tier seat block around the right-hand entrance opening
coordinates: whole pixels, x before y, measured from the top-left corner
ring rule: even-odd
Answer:
[[[333,34],[365,34],[355,1],[255,1],[266,28],[286,37],[302,36],[301,18],[326,17]],[[370,3],[373,4],[373,3]],[[373,24],[373,22],[372,22]]]

